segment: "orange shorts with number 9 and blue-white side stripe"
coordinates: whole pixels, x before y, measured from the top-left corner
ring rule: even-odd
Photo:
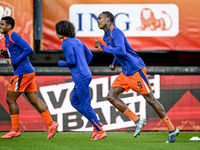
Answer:
[[[152,88],[147,77],[146,67],[142,68],[132,76],[126,76],[121,72],[111,87],[122,87],[126,92],[131,89],[141,94],[152,92]]]

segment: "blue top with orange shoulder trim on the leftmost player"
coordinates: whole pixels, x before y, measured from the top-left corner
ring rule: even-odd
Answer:
[[[22,75],[35,72],[28,56],[33,52],[30,45],[15,31],[10,30],[5,35],[5,46],[8,57],[14,68],[14,75]]]

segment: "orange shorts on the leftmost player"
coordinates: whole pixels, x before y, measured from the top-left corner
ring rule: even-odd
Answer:
[[[36,92],[35,72],[13,76],[8,85],[8,91],[13,92]]]

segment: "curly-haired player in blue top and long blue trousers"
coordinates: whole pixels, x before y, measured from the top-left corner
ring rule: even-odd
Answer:
[[[98,121],[96,113],[91,107],[89,84],[92,73],[88,65],[93,55],[85,44],[75,37],[75,27],[70,21],[60,21],[55,28],[57,37],[63,39],[62,50],[66,59],[66,61],[60,60],[58,66],[68,67],[75,83],[71,104],[92,123],[91,140],[103,139],[107,137],[107,134],[102,129],[102,124]]]

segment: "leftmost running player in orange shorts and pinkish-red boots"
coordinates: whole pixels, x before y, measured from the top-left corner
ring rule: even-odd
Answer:
[[[19,107],[16,100],[23,92],[48,124],[49,134],[47,139],[50,139],[54,136],[58,123],[52,120],[46,104],[37,95],[35,70],[28,58],[33,50],[18,33],[13,31],[14,25],[15,20],[12,17],[6,16],[1,18],[0,33],[5,36],[7,51],[1,49],[0,56],[8,57],[8,65],[14,68],[14,76],[8,85],[6,98],[10,109],[12,129],[7,134],[1,136],[1,138],[10,139],[21,135],[19,130]]]

